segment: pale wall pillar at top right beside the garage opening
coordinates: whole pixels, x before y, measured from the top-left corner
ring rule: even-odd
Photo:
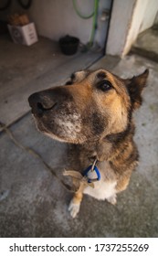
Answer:
[[[123,57],[139,33],[152,27],[158,0],[114,0],[107,53]]]

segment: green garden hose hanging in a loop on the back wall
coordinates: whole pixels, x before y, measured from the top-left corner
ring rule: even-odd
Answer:
[[[94,11],[92,12],[92,14],[90,14],[90,16],[83,16],[80,14],[78,7],[76,5],[76,0],[72,0],[73,1],[73,6],[74,9],[76,11],[76,13],[78,14],[79,17],[84,18],[84,19],[88,19],[90,17],[93,17],[93,21],[92,21],[92,29],[91,29],[91,34],[90,34],[90,41],[87,44],[85,50],[88,50],[92,47],[93,42],[94,42],[94,37],[95,37],[95,31],[97,29],[97,15],[98,15],[98,7],[99,7],[99,0],[94,0]]]

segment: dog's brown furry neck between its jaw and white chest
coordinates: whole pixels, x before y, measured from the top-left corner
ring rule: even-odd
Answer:
[[[134,133],[134,125],[131,123],[127,129],[121,133],[109,134],[106,137],[98,141],[89,141],[84,144],[73,145],[72,158],[76,159],[80,165],[80,168],[86,167],[93,163],[95,159],[99,162],[113,161],[115,157],[121,154],[121,150],[126,144],[132,142],[132,136]],[[75,150],[74,150],[75,146]]]

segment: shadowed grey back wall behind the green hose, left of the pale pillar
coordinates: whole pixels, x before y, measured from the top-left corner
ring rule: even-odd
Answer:
[[[92,13],[94,1],[76,0],[80,13],[87,16]],[[104,46],[108,21],[101,21],[102,10],[111,7],[111,0],[100,0],[98,30],[95,40],[100,47]],[[40,36],[58,40],[59,37],[72,35],[79,37],[82,43],[88,43],[92,28],[92,18],[80,18],[72,4],[72,0],[34,0],[28,11],[22,9],[16,1],[13,1],[9,10],[0,13],[0,17],[5,18],[8,13],[26,12],[36,23],[37,33]]]

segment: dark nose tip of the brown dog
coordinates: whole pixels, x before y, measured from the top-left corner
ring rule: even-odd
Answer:
[[[32,108],[33,113],[43,114],[44,112],[51,110],[57,105],[57,102],[50,99],[47,95],[43,95],[40,92],[36,92],[29,96],[28,102]]]

